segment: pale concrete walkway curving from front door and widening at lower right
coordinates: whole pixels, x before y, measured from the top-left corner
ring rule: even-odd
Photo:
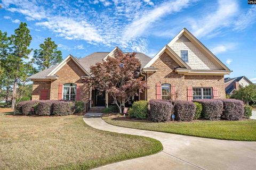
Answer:
[[[256,169],[256,142],[189,137],[171,133],[121,128],[104,122],[100,114],[85,114],[95,129],[141,135],[162,142],[158,154],[109,164],[96,169]]]

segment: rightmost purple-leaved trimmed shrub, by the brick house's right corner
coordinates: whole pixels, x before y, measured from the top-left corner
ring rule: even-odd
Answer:
[[[223,102],[222,118],[238,121],[244,117],[244,103],[236,99],[220,99]]]

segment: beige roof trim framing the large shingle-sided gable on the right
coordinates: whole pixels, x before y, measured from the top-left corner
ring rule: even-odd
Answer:
[[[221,73],[219,70],[216,70],[214,72],[216,72],[216,74],[218,74],[217,72],[219,72],[219,74],[227,74],[230,73],[231,71],[228,69],[228,67],[223,64],[215,55],[213,55],[209,49],[207,49],[195,36],[193,36],[186,28],[183,28],[177,36],[175,36],[169,44],[167,44],[166,46],[164,46],[153,58],[152,60],[145,65],[145,67],[150,67],[162,54],[163,52],[173,52],[173,50],[170,48],[170,46],[172,44],[174,44],[180,37],[186,37],[189,41],[191,41],[191,43],[193,43],[199,50],[201,50],[202,53],[204,53],[214,64],[218,65],[219,67],[221,67],[223,70],[221,70]],[[167,49],[167,50],[166,50]],[[175,52],[173,52],[175,53]],[[171,56],[171,55],[170,55]],[[174,57],[173,57],[174,56]],[[171,57],[173,57],[173,59],[177,59],[180,58],[176,53],[175,55],[173,55]],[[178,57],[178,58],[177,58]],[[182,60],[183,61],[183,60]],[[181,62],[181,66],[184,65],[185,68],[188,69],[188,74],[194,74],[192,72],[189,71],[189,66],[185,63],[185,62]],[[186,65],[185,65],[185,64]],[[180,64],[180,63],[178,63]],[[191,70],[191,68],[190,68]],[[178,70],[177,70],[178,71]],[[203,70],[202,70],[203,71]],[[182,72],[185,72],[184,70]],[[190,72],[190,73],[189,73]],[[199,73],[200,71],[197,70],[197,72]],[[209,72],[210,73],[210,72]]]

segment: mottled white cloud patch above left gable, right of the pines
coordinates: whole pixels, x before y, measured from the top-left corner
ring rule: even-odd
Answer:
[[[50,29],[58,33],[58,36],[66,39],[82,39],[90,42],[100,43],[103,41],[93,25],[86,21],[75,21],[70,18],[56,16],[49,21],[37,22],[36,25]]]

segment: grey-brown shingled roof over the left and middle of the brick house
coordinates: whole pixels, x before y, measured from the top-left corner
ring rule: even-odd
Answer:
[[[69,55],[68,57],[71,57],[72,60],[74,60],[74,62],[79,66],[79,67],[83,67],[83,71],[86,72],[87,75],[90,75],[90,66],[94,65],[95,63],[98,63],[100,61],[102,61],[107,55],[109,54],[109,52],[95,52],[92,53],[90,55],[87,55],[81,59],[77,59],[76,57]],[[124,54],[127,54],[127,52],[125,52]],[[65,58],[65,60],[63,60],[61,63],[65,63],[65,61],[68,60],[68,57]],[[141,62],[141,67],[145,66],[150,60],[151,58],[143,53],[136,53],[135,55],[136,58],[138,58]],[[28,79],[30,80],[35,80],[35,79],[49,79],[49,81],[51,79],[57,79],[58,77],[54,77],[55,70],[57,70],[58,68],[61,68],[63,65],[62,64],[57,64],[54,65],[52,67],[50,67],[49,69],[45,69],[41,72],[38,72],[34,75],[31,75],[30,77],[28,77]],[[65,65],[65,64],[64,64]],[[58,67],[58,68],[57,68]]]

